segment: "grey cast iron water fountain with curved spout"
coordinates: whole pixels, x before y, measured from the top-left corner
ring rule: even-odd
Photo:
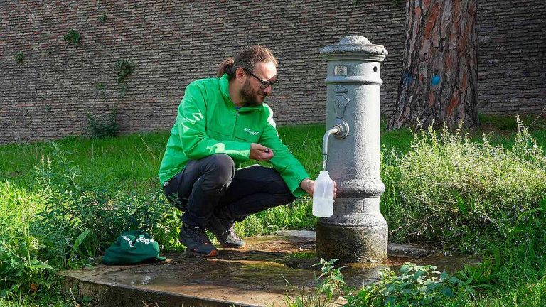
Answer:
[[[316,227],[316,253],[343,262],[387,257],[388,227],[379,211],[382,45],[346,36],[321,50],[328,62],[323,167],[338,183],[331,217]],[[335,136],[329,139],[329,136]]]

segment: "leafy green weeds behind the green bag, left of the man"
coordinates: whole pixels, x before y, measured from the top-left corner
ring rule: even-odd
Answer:
[[[78,183],[80,171],[70,165],[67,153],[60,149],[53,158],[44,158],[38,166],[36,179],[41,185],[45,208],[39,213],[41,227],[63,230],[68,237],[76,238],[89,230],[90,239],[97,250],[85,248],[77,254],[93,257],[125,230],[144,230],[156,238],[164,250],[172,249],[176,242],[176,210],[171,208],[159,190],[144,193],[120,191],[107,186],[85,186]],[[85,244],[82,244],[82,247]]]

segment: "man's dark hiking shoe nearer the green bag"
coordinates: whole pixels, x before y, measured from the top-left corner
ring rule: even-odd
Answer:
[[[205,230],[199,226],[184,224],[180,229],[178,240],[186,245],[186,253],[198,257],[213,257],[218,249],[208,240]]]

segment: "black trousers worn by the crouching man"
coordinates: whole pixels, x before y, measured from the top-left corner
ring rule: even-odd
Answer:
[[[227,154],[191,160],[164,186],[168,200],[184,211],[183,222],[206,227],[212,215],[242,221],[247,215],[296,198],[273,168],[249,166],[235,171]]]

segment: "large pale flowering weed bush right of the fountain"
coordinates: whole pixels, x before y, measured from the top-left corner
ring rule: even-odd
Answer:
[[[519,122],[513,145],[480,143],[458,130],[414,134],[410,151],[383,158],[383,212],[396,241],[440,242],[478,252],[503,242],[546,191],[546,155]],[[390,205],[389,204],[395,204]]]

